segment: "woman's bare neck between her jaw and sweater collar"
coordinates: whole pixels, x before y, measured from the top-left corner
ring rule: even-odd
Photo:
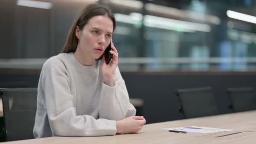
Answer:
[[[79,47],[80,44],[77,45],[77,49],[74,53],[75,59],[80,63],[85,66],[91,66],[94,64],[95,59],[92,59],[89,56],[89,53],[83,53]]]

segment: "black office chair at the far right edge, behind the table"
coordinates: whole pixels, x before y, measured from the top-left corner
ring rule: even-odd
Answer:
[[[256,109],[256,95],[254,89],[248,88],[227,88],[230,105],[233,112],[243,112]]]

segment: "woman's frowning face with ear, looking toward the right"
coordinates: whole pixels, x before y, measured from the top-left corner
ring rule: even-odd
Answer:
[[[113,22],[108,16],[94,16],[83,30],[77,27],[77,48],[80,48],[83,56],[99,59],[110,43],[112,32]]]

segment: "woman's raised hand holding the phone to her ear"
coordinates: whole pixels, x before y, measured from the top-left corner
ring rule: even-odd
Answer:
[[[115,70],[118,64],[118,53],[117,49],[114,47],[114,44],[111,45],[113,51],[109,51],[113,54],[112,60],[109,64],[106,64],[105,56],[102,56],[102,64],[101,64],[101,73],[103,76],[104,83],[108,86],[115,85]]]

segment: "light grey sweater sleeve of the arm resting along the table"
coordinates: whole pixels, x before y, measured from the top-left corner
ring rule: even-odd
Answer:
[[[75,96],[70,94],[69,77],[65,68],[50,69],[42,81],[45,105],[54,136],[115,135],[116,122],[77,115]]]

